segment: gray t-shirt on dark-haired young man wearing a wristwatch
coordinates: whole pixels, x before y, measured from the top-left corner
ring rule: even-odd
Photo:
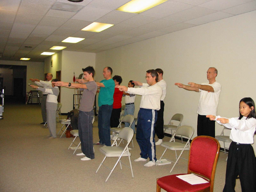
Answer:
[[[90,112],[94,106],[94,100],[98,86],[95,81],[89,81],[85,84],[87,86],[87,89],[81,89],[84,90],[84,92],[80,102],[79,110],[84,112]]]

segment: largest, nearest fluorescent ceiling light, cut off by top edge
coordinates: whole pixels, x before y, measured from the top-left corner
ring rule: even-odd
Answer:
[[[124,4],[118,11],[141,13],[168,0],[131,0]]]

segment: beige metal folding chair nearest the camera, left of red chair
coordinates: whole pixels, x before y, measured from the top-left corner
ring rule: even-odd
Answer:
[[[108,170],[110,170],[110,174],[108,175],[105,182],[108,181],[108,178],[110,177],[110,175],[112,174],[112,172],[114,171],[114,169],[116,168],[118,163],[120,163],[120,168],[122,170],[122,164],[124,164],[124,163],[121,162],[121,158],[123,156],[128,156],[130,166],[127,166],[126,164],[124,164],[124,165],[131,169],[132,178],[134,177],[133,171],[132,171],[132,162],[131,162],[131,158],[130,158],[131,154],[130,154],[129,147],[128,147],[128,145],[130,144],[130,142],[132,140],[132,137],[133,137],[133,130],[131,128],[125,127],[116,136],[116,139],[114,140],[114,143],[112,144],[112,146],[104,146],[104,147],[100,148],[100,152],[102,154],[104,154],[105,157],[104,157],[103,161],[101,162],[100,166],[98,167],[98,169],[96,170],[96,173],[98,172],[98,170],[100,169],[100,167],[102,165],[105,166]],[[117,143],[118,138],[120,138],[121,141],[122,140],[127,141],[127,144],[124,148],[118,146],[118,143]],[[108,168],[108,166],[103,164],[107,157],[118,157],[118,160],[116,161],[116,164],[114,165],[114,167],[112,169]]]

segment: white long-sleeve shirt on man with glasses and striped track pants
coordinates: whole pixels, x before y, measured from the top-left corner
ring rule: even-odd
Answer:
[[[141,95],[140,108],[160,110],[162,88],[156,83],[140,88],[128,87],[127,93]]]

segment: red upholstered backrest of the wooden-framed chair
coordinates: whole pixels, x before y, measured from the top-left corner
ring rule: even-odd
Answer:
[[[208,178],[213,191],[214,175],[220,152],[218,140],[210,136],[195,137],[190,146],[188,174],[195,173]]]

